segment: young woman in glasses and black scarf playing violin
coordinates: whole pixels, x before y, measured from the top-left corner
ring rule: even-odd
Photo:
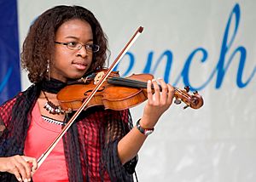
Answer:
[[[0,107],[0,181],[133,181],[145,131],[172,104],[173,88],[162,79],[148,81],[137,126],[129,110],[90,107],[38,168],[38,158],[73,116],[58,110],[56,94],[67,82],[102,69],[107,45],[99,22],[83,7],[57,6],[35,20],[21,53],[33,84]]]

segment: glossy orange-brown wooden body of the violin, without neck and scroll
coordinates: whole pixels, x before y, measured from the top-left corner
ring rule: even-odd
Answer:
[[[103,71],[105,72],[105,71]],[[117,71],[113,71],[110,77],[119,77]],[[133,74],[125,79],[132,81],[147,82],[154,77],[150,74]],[[87,82],[79,82],[77,84],[67,85],[62,88],[57,94],[57,100],[64,111],[76,111],[83,104],[84,100],[90,95],[91,91],[95,88],[96,79],[91,79]],[[105,109],[114,111],[122,111],[129,109],[133,106],[139,105],[147,100],[146,88],[125,87],[116,84],[108,83],[105,81],[102,86],[97,90],[96,94],[90,100],[85,109],[102,105]]]

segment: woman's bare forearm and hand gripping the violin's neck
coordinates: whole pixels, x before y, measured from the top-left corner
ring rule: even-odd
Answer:
[[[159,79],[160,87],[155,80],[148,81],[148,103],[144,107],[143,117],[140,121],[142,128],[154,128],[160,116],[172,105],[174,88],[166,84],[163,79]],[[152,84],[154,85],[154,94],[152,94]],[[137,152],[142,147],[146,135],[142,134],[137,127],[132,128],[131,131],[119,141],[118,153],[119,159],[124,164],[137,155]]]

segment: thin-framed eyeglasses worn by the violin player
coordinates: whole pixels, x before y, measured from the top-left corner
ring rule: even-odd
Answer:
[[[100,46],[98,46],[96,44],[93,44],[93,43],[85,44],[85,45],[83,45],[81,43],[78,43],[78,42],[60,43],[60,42],[55,41],[55,43],[58,43],[58,44],[61,44],[61,45],[66,45],[67,48],[69,48],[71,50],[80,50],[84,46],[87,51],[93,52],[93,53],[98,52],[99,49],[100,49]]]

